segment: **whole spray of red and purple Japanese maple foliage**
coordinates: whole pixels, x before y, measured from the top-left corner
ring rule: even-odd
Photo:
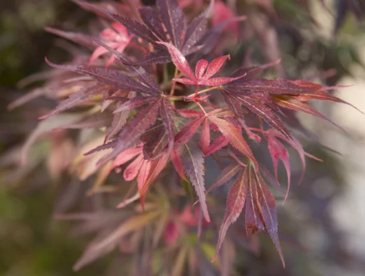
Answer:
[[[153,246],[172,246],[180,250],[179,254],[190,249],[178,244],[178,239],[195,233],[196,227],[199,235],[213,231],[218,239],[216,253],[211,256],[214,261],[229,226],[235,225],[242,213],[244,218],[240,219],[244,221],[247,236],[268,233],[284,265],[275,199],[267,184],[280,188],[278,163],[282,161],[287,175],[284,200],[290,196],[289,147],[298,152],[303,174],[306,157],[316,159],[304,151],[289,131],[287,125],[293,126],[290,121],[293,112],[288,110],[329,121],[307,101],[345,102],[326,92],[333,87],[258,77],[279,61],[236,68],[234,72],[226,70],[230,56],[216,56],[214,49],[227,26],[238,36],[239,22],[245,17],[234,17],[233,12],[219,13],[222,8],[230,11],[223,1],[211,1],[207,5],[196,1],[194,5],[206,6],[206,10],[189,24],[176,0],[157,0],[156,7],[144,7],[132,0],[115,5],[73,1],[96,12],[110,26],[104,27],[99,37],[47,29],[92,52],[89,57],[75,57],[67,65],[46,59],[54,73],[45,87],[12,104],[14,108],[45,95],[46,91],[59,99],[58,106],[41,117],[44,121],[25,143],[23,161],[36,138],[45,132],[55,128],[59,131],[91,128],[93,132],[83,132],[86,138],[81,139],[79,154],[70,164],[71,171],[82,180],[96,174],[89,194],[107,190],[108,179],[114,174],[114,179],[130,190],[136,187],[136,194],[126,193],[118,208],[134,206],[138,210],[124,217],[117,226],[105,224],[105,228],[110,228],[106,231],[109,234],[96,239],[75,268],[118,245],[124,252],[122,244],[129,238],[132,242],[127,247],[137,248],[142,241],[134,233],[142,233],[148,226],[155,230],[151,237]],[[184,6],[192,4],[180,2]],[[137,8],[138,13],[132,12]],[[168,63],[174,66],[172,70]],[[220,101],[211,100],[219,95]],[[63,113],[74,108],[79,112]],[[284,114],[289,114],[289,118]],[[295,124],[298,130],[303,129],[299,121]],[[268,149],[273,174],[250,145]],[[209,167],[205,167],[205,161],[210,157],[225,159],[225,166],[207,189],[205,175],[209,174]],[[225,213],[216,212],[215,196],[210,192],[228,185],[231,179],[233,185],[225,195]],[[175,210],[174,201],[184,191],[186,197],[192,195],[198,199],[193,213],[194,201],[186,201],[183,211]],[[219,233],[214,232],[217,221],[221,222]],[[103,232],[103,224],[96,224],[96,230]]]

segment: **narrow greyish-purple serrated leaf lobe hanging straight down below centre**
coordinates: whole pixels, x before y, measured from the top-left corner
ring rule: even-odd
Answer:
[[[210,221],[207,203],[205,201],[204,184],[204,154],[200,148],[185,144],[185,154],[182,157],[185,172],[193,184],[196,195],[198,195],[202,215],[206,221]]]

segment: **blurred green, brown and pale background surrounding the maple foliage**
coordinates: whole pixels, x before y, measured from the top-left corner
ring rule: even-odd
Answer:
[[[247,5],[258,5],[263,10],[271,7],[283,19],[275,21],[268,15],[270,12],[263,12],[264,19],[253,20],[256,28],[242,26],[242,37],[249,42],[233,47],[233,55],[239,56],[249,46],[260,46],[253,51],[253,59],[270,61],[281,57],[281,75],[351,86],[335,94],[365,111],[365,26],[361,21],[364,1],[353,1],[359,5],[355,11],[344,5],[350,2],[345,0],[324,1],[325,7],[317,0],[227,2],[241,7],[242,13]],[[36,114],[54,103],[39,98],[22,108],[7,110],[8,104],[28,89],[21,87],[19,81],[47,68],[45,56],[59,62],[70,59],[65,51],[70,44],[43,28],[90,30],[91,19],[93,14],[68,0],[0,1],[1,276],[107,273],[108,257],[72,271],[90,237],[75,237],[72,222],[54,219],[55,210],[67,202],[60,196],[64,190],[61,181],[50,175],[49,164],[44,161],[50,152],[49,141],[37,143],[29,162],[20,166],[19,148],[36,126]],[[250,36],[250,32],[257,35]],[[297,186],[295,170],[298,179],[300,164],[293,159],[290,198],[284,206],[278,204],[280,237],[289,269],[282,270],[280,263],[273,264],[265,257],[275,253],[263,237],[268,245],[261,255],[248,254],[238,260],[242,275],[365,274],[365,115],[351,106],[313,104],[346,132],[319,119],[300,116],[318,138],[315,143],[304,139],[306,151],[324,162],[309,161],[304,182]],[[98,196],[90,202],[98,204]]]

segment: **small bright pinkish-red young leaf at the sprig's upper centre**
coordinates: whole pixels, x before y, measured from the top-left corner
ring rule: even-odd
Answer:
[[[211,63],[209,63],[206,59],[200,59],[200,61],[196,63],[195,74],[194,74],[194,72],[191,70],[189,66],[189,63],[185,59],[185,56],[183,55],[182,52],[180,52],[180,50],[178,50],[178,48],[176,48],[171,43],[166,43],[166,42],[158,42],[158,43],[163,44],[167,48],[169,54],[171,55],[171,60],[175,64],[176,68],[178,68],[180,72],[183,72],[183,74],[189,78],[189,79],[174,78],[174,81],[196,86],[199,85],[220,86],[222,84],[229,83],[231,81],[236,81],[237,79],[240,79],[245,76],[245,74],[243,74],[238,77],[211,78],[213,75],[216,75],[216,72],[220,70],[223,63],[225,63],[227,59],[230,59],[229,55],[213,59]]]

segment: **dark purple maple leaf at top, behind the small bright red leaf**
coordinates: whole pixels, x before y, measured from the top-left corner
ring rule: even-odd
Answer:
[[[140,37],[154,46],[154,51],[133,65],[146,65],[150,63],[167,63],[170,61],[169,52],[157,42],[172,43],[184,55],[191,55],[202,48],[200,40],[205,35],[209,15],[213,10],[213,2],[205,12],[196,17],[189,26],[186,26],[185,15],[176,0],[157,0],[156,8],[141,7],[138,9],[143,23],[114,14],[105,8],[82,0],[74,0],[79,5],[98,10],[114,21],[121,23],[129,32]],[[222,32],[218,32],[219,34]]]

